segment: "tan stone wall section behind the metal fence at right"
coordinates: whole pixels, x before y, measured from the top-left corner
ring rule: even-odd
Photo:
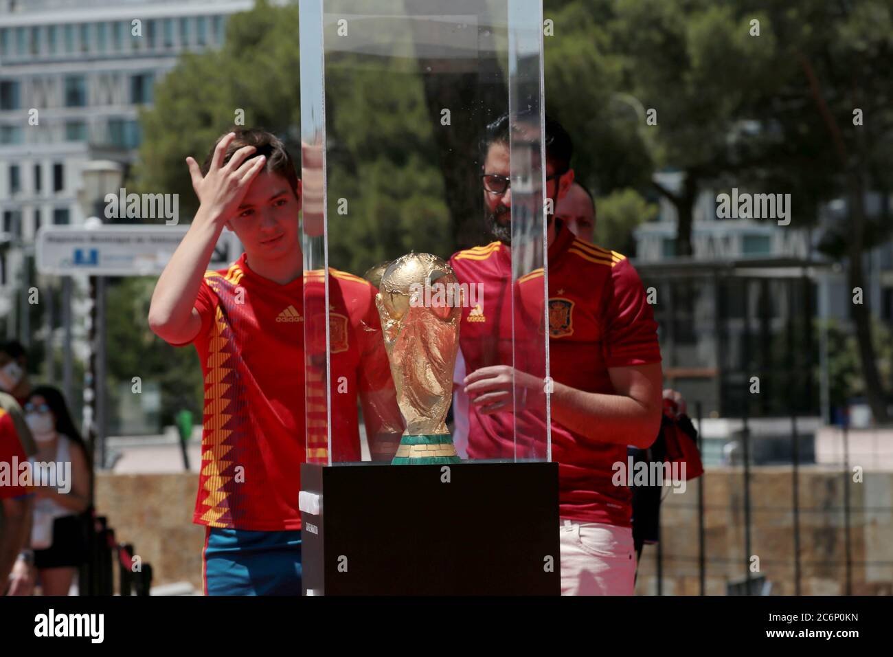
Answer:
[[[744,476],[741,467],[711,468],[704,485],[705,592],[722,595],[730,581],[745,577]],[[697,595],[698,480],[685,493],[668,493],[661,514],[663,594]],[[801,468],[799,473],[800,594],[846,592],[846,479],[839,469]],[[792,470],[759,467],[750,480],[750,556],[772,594],[793,595],[794,512]],[[849,484],[849,552],[853,594],[893,594],[893,473],[866,471]],[[639,567],[637,594],[655,594],[657,548],[647,545]]]

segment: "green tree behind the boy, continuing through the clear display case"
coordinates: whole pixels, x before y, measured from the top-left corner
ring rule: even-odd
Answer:
[[[230,18],[221,50],[184,56],[142,114],[138,187],[179,193],[193,213],[184,160],[201,162],[238,113],[280,136],[299,168],[298,31],[296,4],[261,1]],[[411,248],[449,256],[455,246],[421,75],[367,60],[333,51],[326,72],[330,265],[355,274]]]

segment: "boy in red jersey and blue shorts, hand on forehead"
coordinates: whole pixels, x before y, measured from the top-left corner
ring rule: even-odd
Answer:
[[[303,275],[301,184],[288,151],[266,131],[230,132],[204,166],[187,162],[201,205],[158,279],[149,324],[175,346],[194,343],[202,362],[193,519],[207,527],[204,593],[299,595],[300,464],[328,457],[325,383],[305,381],[305,294],[321,299],[324,277]],[[224,226],[245,253],[205,273]],[[334,461],[361,458],[357,394],[373,454],[381,438],[402,431],[375,294],[369,282],[330,270]],[[307,327],[308,350],[324,357],[324,316],[308,321],[320,324]]]

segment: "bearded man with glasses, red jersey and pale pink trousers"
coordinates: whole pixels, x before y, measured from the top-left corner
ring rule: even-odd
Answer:
[[[536,354],[518,341],[543,341],[542,270],[519,278],[513,290],[509,120],[488,126],[482,171],[486,222],[497,241],[456,253],[460,282],[483,283],[486,304],[463,308],[460,343],[471,398],[468,455],[508,458],[519,444],[546,434],[545,382]],[[547,118],[548,206],[573,181],[572,142]],[[630,491],[614,485],[613,464],[625,463],[627,445],[654,442],[661,417],[660,349],[651,307],[630,261],[574,237],[547,215],[549,374],[552,378],[553,458],[559,463],[563,594],[632,594],[635,557]],[[512,295],[521,308],[513,311]],[[519,316],[536,317],[530,323]],[[517,331],[517,328],[516,328]],[[542,349],[540,348],[539,351]],[[534,373],[534,374],[531,374]],[[513,394],[513,383],[519,392]],[[515,408],[515,399],[525,400]],[[517,427],[517,430],[515,429]]]

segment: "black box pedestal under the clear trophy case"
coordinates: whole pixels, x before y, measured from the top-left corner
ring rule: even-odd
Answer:
[[[301,482],[305,594],[561,592],[556,463],[303,464]]]

